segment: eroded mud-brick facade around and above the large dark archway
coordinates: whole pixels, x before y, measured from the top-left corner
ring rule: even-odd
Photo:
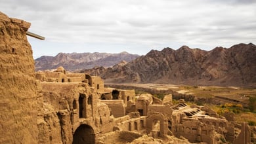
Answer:
[[[110,109],[85,83],[41,82],[37,101],[39,143],[72,143],[81,126],[91,127],[95,137],[113,130]]]

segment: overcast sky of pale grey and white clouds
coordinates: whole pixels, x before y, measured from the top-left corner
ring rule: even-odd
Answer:
[[[256,0],[0,0],[0,11],[45,37],[28,37],[34,58],[256,44]]]

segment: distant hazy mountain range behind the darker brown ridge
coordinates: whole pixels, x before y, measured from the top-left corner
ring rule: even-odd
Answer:
[[[56,69],[63,66],[68,71],[91,69],[93,67],[110,67],[125,60],[130,62],[139,55],[121,52],[119,54],[108,53],[59,53],[56,56],[41,56],[35,60],[35,70]]]

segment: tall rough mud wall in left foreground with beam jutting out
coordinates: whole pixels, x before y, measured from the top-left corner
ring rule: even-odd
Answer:
[[[37,86],[30,23],[0,12],[0,143],[37,143]]]

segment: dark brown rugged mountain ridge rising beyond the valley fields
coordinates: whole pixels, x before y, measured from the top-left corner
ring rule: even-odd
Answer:
[[[182,46],[151,50],[129,63],[82,71],[106,82],[156,82],[220,86],[256,86],[256,46],[239,44],[210,51]]]

